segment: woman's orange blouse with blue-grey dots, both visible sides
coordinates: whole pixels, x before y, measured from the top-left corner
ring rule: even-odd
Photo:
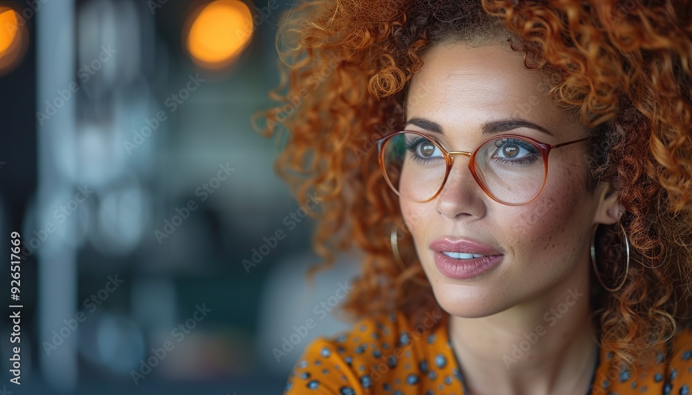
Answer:
[[[448,338],[448,315],[412,327],[403,313],[358,322],[352,331],[314,340],[284,395],[464,395],[462,364]],[[592,395],[690,395],[692,330],[680,331],[646,371],[617,369],[601,349]]]

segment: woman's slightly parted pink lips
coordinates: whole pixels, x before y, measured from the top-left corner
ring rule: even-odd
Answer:
[[[502,261],[503,255],[498,250],[469,239],[442,237],[430,243],[430,250],[435,252],[435,266],[447,277],[468,279],[482,275]],[[466,254],[484,255],[471,259],[457,259],[444,255],[443,252],[463,252]]]

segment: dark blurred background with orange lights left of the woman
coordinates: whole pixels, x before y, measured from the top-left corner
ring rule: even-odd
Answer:
[[[0,394],[280,394],[349,327],[251,129],[292,6],[0,1]]]

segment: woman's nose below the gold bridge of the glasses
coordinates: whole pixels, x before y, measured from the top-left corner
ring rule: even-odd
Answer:
[[[437,212],[449,219],[483,217],[486,212],[485,192],[475,181],[468,167],[470,154],[458,151],[450,154],[456,155],[453,156],[454,163],[447,181],[437,195]]]

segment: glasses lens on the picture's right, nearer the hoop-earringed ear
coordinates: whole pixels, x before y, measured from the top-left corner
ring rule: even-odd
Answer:
[[[540,149],[529,140],[495,138],[475,156],[475,172],[487,192],[508,204],[534,199],[543,188],[545,163]]]

